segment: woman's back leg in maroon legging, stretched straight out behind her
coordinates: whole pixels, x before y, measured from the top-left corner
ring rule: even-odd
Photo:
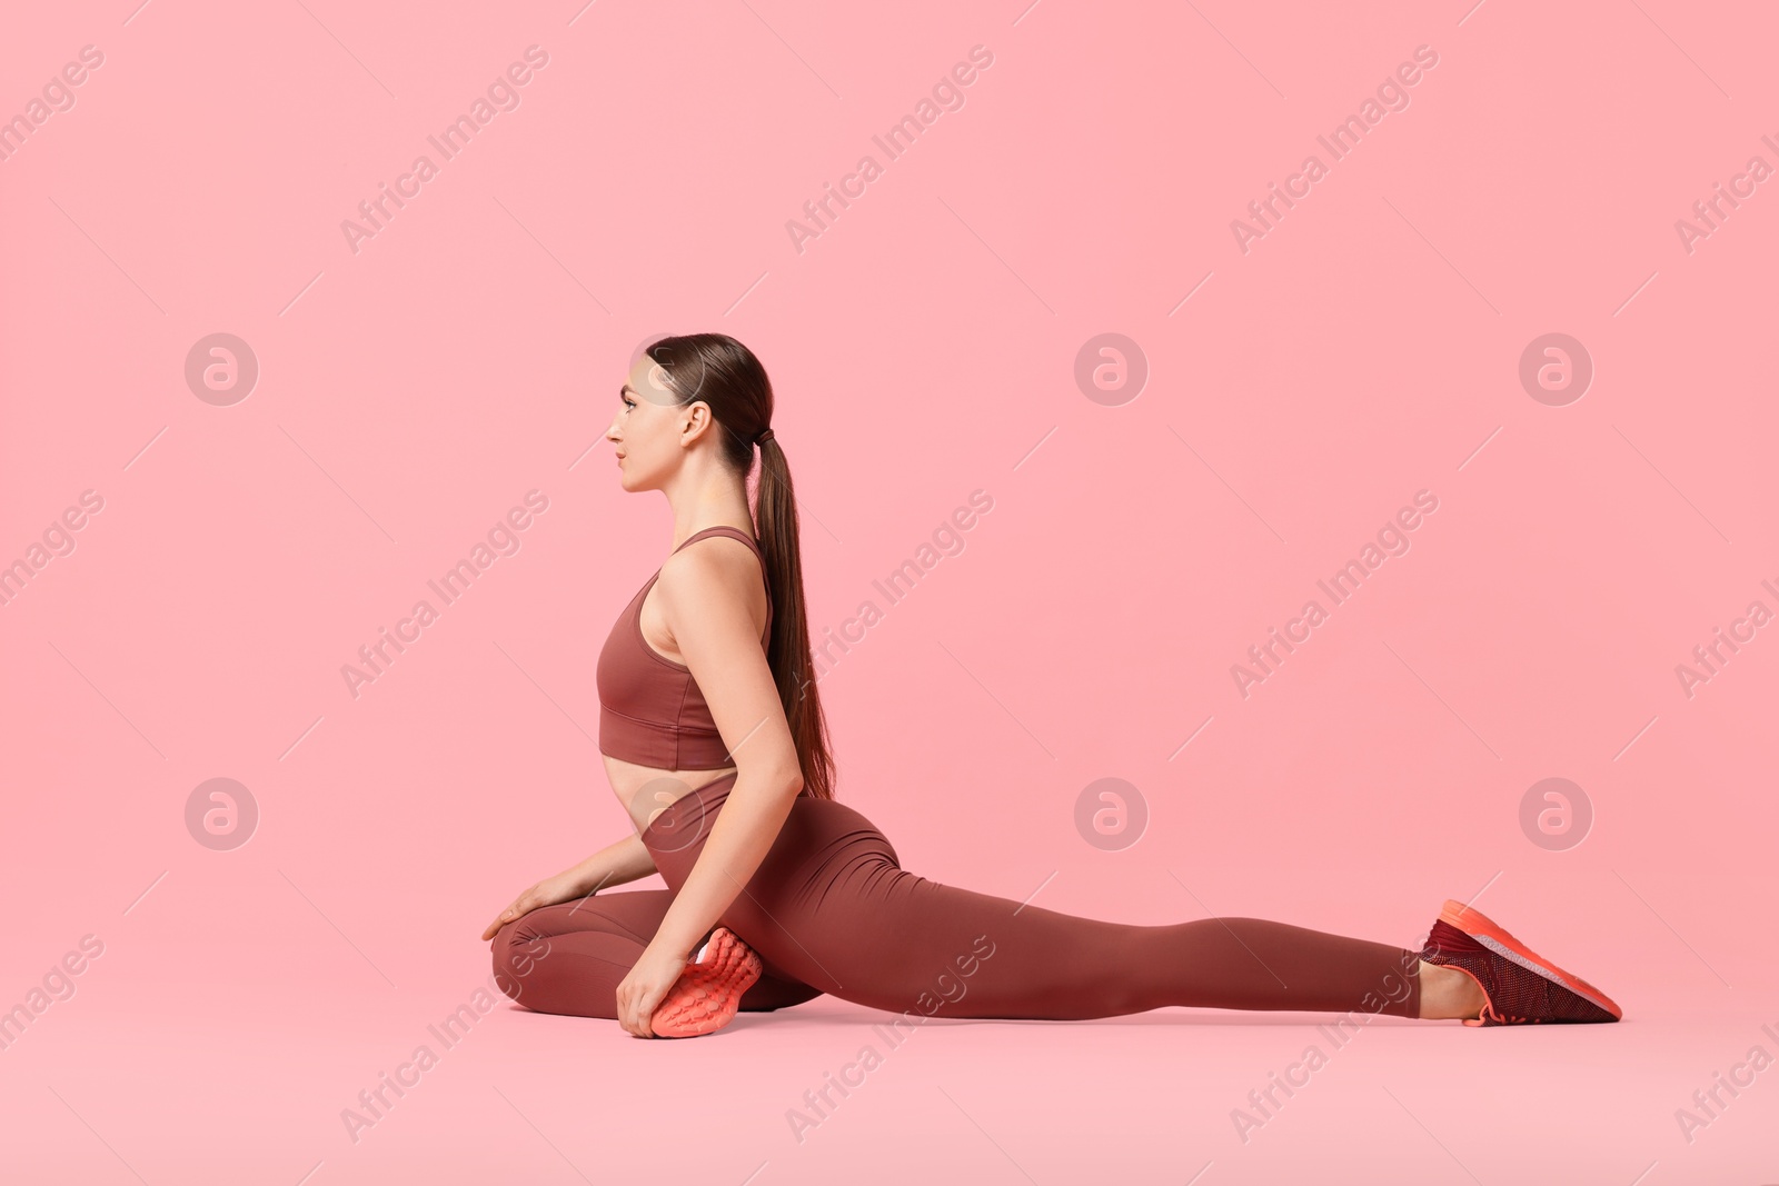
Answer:
[[[737,934],[847,1001],[1083,1019],[1167,1005],[1420,1015],[1420,955],[1256,918],[1135,926],[941,885],[888,861],[822,889],[749,887]],[[742,930],[745,928],[745,930]]]

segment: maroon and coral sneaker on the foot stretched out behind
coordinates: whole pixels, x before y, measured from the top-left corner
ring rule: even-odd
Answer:
[[[1446,898],[1421,958],[1468,973],[1482,985],[1480,1017],[1466,1026],[1619,1021],[1605,992],[1514,939],[1482,910]]]

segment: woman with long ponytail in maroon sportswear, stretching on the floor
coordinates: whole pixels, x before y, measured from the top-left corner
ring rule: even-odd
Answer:
[[[1167,1005],[1471,1026],[1621,1017],[1452,900],[1409,951],[1256,918],[1076,918],[902,869],[882,832],[834,800],[765,370],[724,334],[664,338],[619,398],[607,439],[623,487],[662,491],[680,541],[598,663],[600,752],[635,834],[489,923],[496,978],[521,1005],[612,1017],[639,1037],[710,1033],[737,1010],[822,992],[1059,1021]],[[601,893],[655,871],[667,889]]]

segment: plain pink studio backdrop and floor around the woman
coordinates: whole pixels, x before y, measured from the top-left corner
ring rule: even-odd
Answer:
[[[0,562],[103,498],[0,606],[0,1005],[105,944],[0,1051],[4,1177],[1779,1177],[1779,1070],[1690,1143],[1674,1117],[1779,1054],[1779,629],[1690,699],[1674,670],[1779,610],[1775,183],[1690,254],[1674,229],[1779,165],[1765,5],[133,4],[0,37],[7,117],[103,52],[0,162]],[[342,220],[530,44],[519,105],[354,254]],[[1421,44],[1409,107],[1244,254],[1231,220]],[[646,1044],[500,999],[350,1142],[487,983],[487,919],[628,827],[592,667],[672,525],[601,434],[669,331],[772,375],[818,626],[994,500],[820,685],[906,868],[1405,946],[1480,891],[1624,1022],[1377,1021],[1242,1143],[1325,1015],[941,1021],[799,1143],[786,1110],[886,1014]],[[260,363],[229,407],[183,377],[212,333]],[[1103,333],[1149,368],[1117,405],[1075,381]],[[1596,368],[1564,407],[1517,379],[1546,333]],[[521,549],[354,699],[340,667],[530,489]],[[1407,555],[1244,699],[1229,667],[1421,489]],[[185,827],[213,777],[262,813],[231,852]],[[1149,811],[1117,852],[1075,827],[1103,777]],[[1592,804],[1580,845],[1521,830],[1546,777]]]

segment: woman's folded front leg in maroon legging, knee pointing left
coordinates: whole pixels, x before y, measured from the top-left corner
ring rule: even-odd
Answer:
[[[495,935],[496,983],[539,1014],[616,1019],[617,985],[649,946],[671,903],[671,889],[635,889],[523,914]],[[769,1012],[815,996],[820,989],[763,974],[742,994],[740,1008]]]

